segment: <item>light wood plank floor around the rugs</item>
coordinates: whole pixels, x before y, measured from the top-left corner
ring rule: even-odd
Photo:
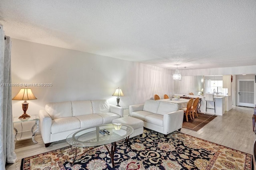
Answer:
[[[256,134],[252,130],[253,113],[253,108],[233,107],[230,111],[226,111],[223,116],[217,116],[197,132],[184,128],[181,129],[181,132],[252,154],[256,139]],[[16,143],[17,160],[14,164],[8,164],[6,170],[20,170],[22,158],[68,146],[64,140],[52,143],[50,147],[45,148],[41,135],[37,135],[35,139],[38,141],[37,144],[34,144],[31,139]]]

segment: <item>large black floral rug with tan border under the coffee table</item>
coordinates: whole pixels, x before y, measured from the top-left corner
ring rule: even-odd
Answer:
[[[167,138],[144,130],[142,137],[130,139],[131,149],[124,140],[117,142],[112,168],[104,146],[82,154],[71,167],[70,147],[22,159],[21,170],[251,170],[252,155],[175,131]],[[108,146],[110,147],[110,145]],[[74,147],[73,147],[74,149]]]

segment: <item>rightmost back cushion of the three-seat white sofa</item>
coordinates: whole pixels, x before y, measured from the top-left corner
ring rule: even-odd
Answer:
[[[91,100],[93,114],[110,112],[107,100]]]

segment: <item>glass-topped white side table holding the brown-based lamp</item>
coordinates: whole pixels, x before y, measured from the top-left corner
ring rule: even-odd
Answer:
[[[38,143],[35,139],[34,139],[34,136],[36,134],[36,132],[39,130],[39,118],[36,116],[36,115],[30,115],[31,117],[27,117],[26,119],[19,119],[18,117],[14,117],[13,118],[13,129],[15,130],[16,134],[15,134],[15,138],[17,136],[18,133],[25,133],[25,132],[28,132],[28,131],[31,131],[32,132],[32,137],[25,137],[25,138],[22,138],[22,135],[20,136],[19,139],[16,138],[17,141],[20,141],[20,140],[24,140],[24,139],[30,139],[32,138],[32,141],[34,143]],[[29,122],[29,121],[35,121],[35,124],[32,126],[31,130],[28,130],[28,131],[23,131],[23,126],[22,126],[22,123],[24,122]],[[14,127],[14,123],[20,123],[21,127],[22,127],[22,130],[18,132],[18,130]],[[36,130],[34,131],[34,127],[36,126]]]

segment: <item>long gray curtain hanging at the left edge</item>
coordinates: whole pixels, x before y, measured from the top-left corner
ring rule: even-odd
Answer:
[[[4,36],[3,26],[0,24],[0,169],[5,164],[14,163],[14,134],[12,124],[12,86],[11,83],[11,41]],[[4,40],[6,37],[6,40]]]

